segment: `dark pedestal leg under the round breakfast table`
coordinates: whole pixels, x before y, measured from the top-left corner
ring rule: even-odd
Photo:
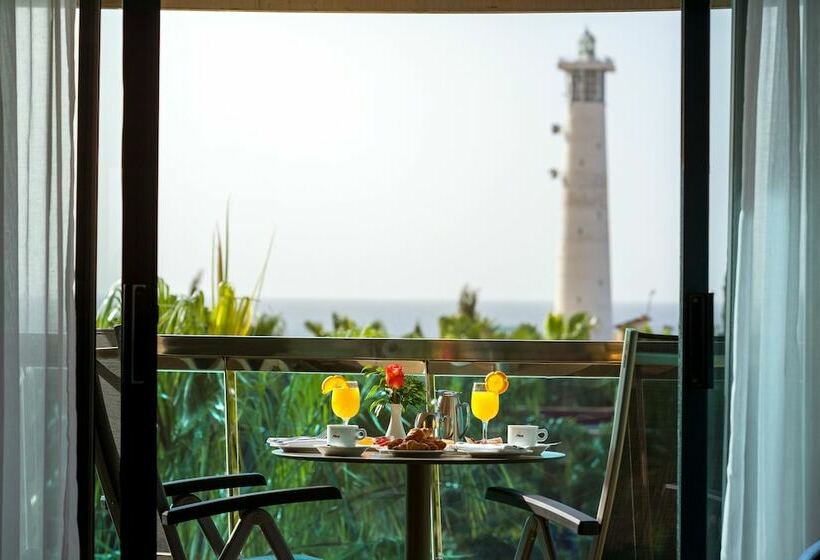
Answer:
[[[407,464],[405,560],[430,560],[432,550],[433,466]]]

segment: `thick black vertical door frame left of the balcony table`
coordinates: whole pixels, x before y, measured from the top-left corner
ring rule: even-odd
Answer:
[[[123,2],[122,558],[156,557],[159,0]]]

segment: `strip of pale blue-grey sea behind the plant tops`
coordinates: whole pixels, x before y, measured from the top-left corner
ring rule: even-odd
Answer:
[[[332,300],[332,299],[263,299],[257,313],[281,315],[288,336],[310,336],[305,321],[316,321],[330,328],[334,312],[347,315],[360,325],[379,320],[391,336],[402,336],[413,330],[416,323],[425,336],[438,336],[438,318],[456,312],[455,300]],[[481,301],[478,312],[497,325],[512,328],[519,323],[532,323],[543,328],[544,319],[552,309],[549,301]],[[644,303],[615,302],[612,305],[613,323],[634,319],[642,314],[650,316],[655,332],[670,327],[678,331],[678,304],[653,302],[650,308]]]

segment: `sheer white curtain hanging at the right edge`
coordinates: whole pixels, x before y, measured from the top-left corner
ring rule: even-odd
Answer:
[[[749,0],[724,559],[820,539],[820,1]]]

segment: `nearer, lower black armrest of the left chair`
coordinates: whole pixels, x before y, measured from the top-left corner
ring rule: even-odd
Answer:
[[[333,486],[311,486],[307,488],[252,492],[241,496],[205,500],[194,504],[172,507],[162,514],[162,523],[165,525],[176,525],[184,521],[211,517],[213,515],[219,515],[220,513],[245,511],[300,502],[340,500],[341,498],[342,493],[339,492],[338,488]]]

